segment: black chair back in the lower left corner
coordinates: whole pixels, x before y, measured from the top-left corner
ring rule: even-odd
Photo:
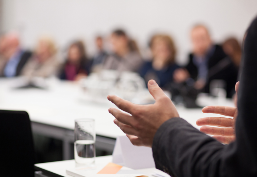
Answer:
[[[34,145],[29,115],[0,110],[0,176],[33,177]]]

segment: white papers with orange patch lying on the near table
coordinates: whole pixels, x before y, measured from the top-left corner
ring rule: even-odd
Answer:
[[[139,171],[115,163],[66,169],[66,173],[74,177],[146,177]]]

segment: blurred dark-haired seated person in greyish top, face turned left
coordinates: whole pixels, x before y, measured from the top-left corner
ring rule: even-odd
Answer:
[[[135,41],[118,29],[111,34],[111,44],[113,54],[106,58],[103,69],[137,72],[143,61]]]

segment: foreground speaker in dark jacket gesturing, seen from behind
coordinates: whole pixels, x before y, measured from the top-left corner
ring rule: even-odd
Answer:
[[[148,88],[156,103],[136,105],[110,95],[108,99],[130,115],[115,108],[109,112],[134,145],[152,147],[156,168],[173,177],[257,176],[257,18],[247,31],[244,52],[236,140],[228,145],[179,118],[173,103],[153,80]],[[203,111],[231,113],[228,107],[215,106],[205,107]]]

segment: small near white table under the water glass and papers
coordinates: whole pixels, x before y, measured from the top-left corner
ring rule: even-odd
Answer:
[[[112,161],[112,156],[101,156],[96,157],[96,165],[100,163],[108,163]],[[35,169],[42,171],[46,176],[58,176],[58,177],[72,177],[71,175],[66,174],[66,169],[70,167],[75,167],[75,160],[66,160],[66,161],[56,161],[56,162],[47,162],[35,164]],[[149,177],[152,177],[154,171],[160,171],[156,168],[147,168],[138,170],[147,174]]]

